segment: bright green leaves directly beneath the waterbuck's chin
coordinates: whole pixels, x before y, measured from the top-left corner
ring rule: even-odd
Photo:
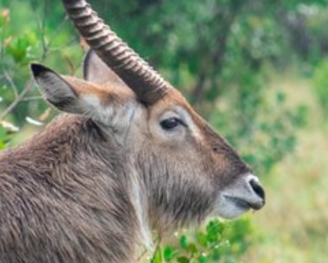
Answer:
[[[175,235],[172,244],[158,245],[152,263],[240,262],[254,242],[249,219],[209,221],[204,228]]]

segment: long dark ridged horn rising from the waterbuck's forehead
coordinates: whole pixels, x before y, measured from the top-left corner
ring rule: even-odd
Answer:
[[[165,80],[104,24],[89,3],[84,0],[62,1],[81,36],[142,103],[151,105],[165,96],[168,88]]]

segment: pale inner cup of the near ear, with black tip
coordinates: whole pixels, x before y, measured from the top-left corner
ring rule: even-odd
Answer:
[[[47,101],[58,110],[66,112],[79,112],[74,105],[77,104],[78,94],[74,87],[67,83],[53,70],[40,64],[31,64],[31,70],[41,93]]]

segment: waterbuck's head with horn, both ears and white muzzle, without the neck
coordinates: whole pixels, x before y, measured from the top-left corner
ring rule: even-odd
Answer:
[[[265,194],[252,169],[167,83],[106,26],[84,0],[63,0],[90,45],[84,80],[32,65],[56,108],[92,119],[126,156],[149,220],[227,219],[259,210]],[[108,156],[110,158],[110,156]],[[126,168],[128,169],[128,168]]]

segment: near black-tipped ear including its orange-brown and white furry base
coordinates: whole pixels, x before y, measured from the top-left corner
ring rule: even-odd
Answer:
[[[59,76],[53,70],[32,64],[33,76],[46,99],[58,110],[85,114],[106,126],[118,127],[129,123],[126,107],[136,106],[136,95],[130,89],[117,89],[115,85],[97,85],[69,76]],[[129,109],[130,109],[129,108]],[[124,118],[126,121],[124,121]]]

